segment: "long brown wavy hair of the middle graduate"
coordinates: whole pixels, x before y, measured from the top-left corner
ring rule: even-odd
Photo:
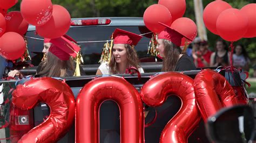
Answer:
[[[126,57],[127,57],[127,61],[129,63],[129,65],[132,67],[135,67],[137,69],[140,68],[138,55],[137,55],[134,47],[129,44],[125,44],[124,47],[126,49]],[[118,65],[117,65],[116,60],[114,60],[113,51],[111,53],[109,68],[110,68],[111,74],[117,74]]]

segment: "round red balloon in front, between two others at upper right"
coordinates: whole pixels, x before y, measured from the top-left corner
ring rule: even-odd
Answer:
[[[221,38],[237,41],[247,32],[248,18],[238,9],[227,9],[220,13],[216,27]]]

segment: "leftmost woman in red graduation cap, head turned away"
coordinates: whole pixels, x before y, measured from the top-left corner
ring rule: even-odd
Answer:
[[[64,77],[73,76],[75,73],[75,64],[71,56],[76,57],[80,47],[76,45],[68,35],[63,35],[56,39],[47,39],[44,42],[43,52],[47,54],[47,58],[39,63],[35,77]],[[50,48],[48,48],[50,46]],[[81,75],[85,75],[80,68]],[[18,70],[10,71],[9,76],[19,75]]]

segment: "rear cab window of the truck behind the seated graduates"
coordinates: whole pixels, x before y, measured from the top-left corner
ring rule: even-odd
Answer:
[[[106,40],[110,40],[110,36],[116,28],[122,28],[123,30],[130,31],[137,34],[149,33],[145,26],[88,26],[88,27],[71,27],[68,31],[73,39],[79,42],[82,48],[82,56],[85,65],[99,64],[103,45]],[[145,61],[152,61],[152,57],[147,54],[147,48],[149,46],[149,41],[152,33],[143,35],[142,40],[139,41],[136,46],[136,51],[139,59]],[[35,31],[29,31],[26,33],[26,37],[41,38],[35,34]],[[43,41],[37,39],[27,38],[28,49],[30,51],[32,58],[32,64],[37,66],[41,59],[43,58]],[[101,41],[101,42],[94,42]],[[110,43],[110,41],[109,41]],[[146,60],[145,60],[146,59]]]

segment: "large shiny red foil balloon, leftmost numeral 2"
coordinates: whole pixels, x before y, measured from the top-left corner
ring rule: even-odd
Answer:
[[[22,110],[33,109],[39,102],[50,106],[50,115],[19,142],[57,142],[73,124],[75,98],[65,82],[51,77],[35,78],[17,85],[12,92],[12,103]]]

